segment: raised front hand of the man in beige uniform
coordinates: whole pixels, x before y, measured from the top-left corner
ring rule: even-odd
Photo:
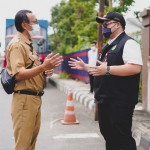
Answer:
[[[62,56],[60,56],[58,53],[55,55],[51,53],[45,58],[42,64],[42,68],[44,69],[44,71],[51,70],[58,67],[62,63],[62,61]]]

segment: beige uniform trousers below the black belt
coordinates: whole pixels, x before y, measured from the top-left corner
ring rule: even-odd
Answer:
[[[41,97],[13,94],[11,115],[14,129],[14,150],[35,150],[41,124]]]

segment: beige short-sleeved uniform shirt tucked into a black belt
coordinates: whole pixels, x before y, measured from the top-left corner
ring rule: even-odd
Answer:
[[[30,44],[32,44],[32,41],[27,39],[20,32],[18,32],[8,44],[6,49],[7,70],[11,76],[26,69],[32,64],[32,61],[34,61],[32,68],[40,65],[36,51],[33,49],[32,53]],[[40,92],[43,90],[43,87],[44,78],[41,73],[29,80],[18,81],[14,90],[31,90]]]

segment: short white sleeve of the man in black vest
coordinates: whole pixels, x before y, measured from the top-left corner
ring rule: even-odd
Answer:
[[[125,64],[143,65],[140,45],[132,39],[125,43],[122,57]]]

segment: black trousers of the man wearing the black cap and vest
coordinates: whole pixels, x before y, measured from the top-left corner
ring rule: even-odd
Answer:
[[[134,106],[98,104],[99,127],[106,150],[136,150],[132,137]]]

